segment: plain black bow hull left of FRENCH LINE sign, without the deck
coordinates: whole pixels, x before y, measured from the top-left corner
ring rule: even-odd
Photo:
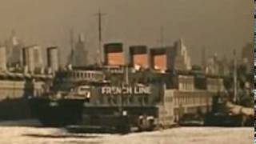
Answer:
[[[82,119],[83,100],[30,98],[31,114],[43,126],[67,126],[78,124]]]

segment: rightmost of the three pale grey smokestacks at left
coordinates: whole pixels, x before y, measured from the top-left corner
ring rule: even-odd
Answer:
[[[47,48],[47,67],[53,72],[58,70],[58,47],[52,46]]]

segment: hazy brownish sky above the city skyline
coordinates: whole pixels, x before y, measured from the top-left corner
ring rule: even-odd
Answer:
[[[183,38],[193,63],[207,54],[230,56],[253,41],[254,2],[250,0],[0,0],[0,40],[11,30],[27,45],[57,45],[62,63],[70,51],[70,29],[82,33],[86,48],[95,54],[100,9],[104,42],[126,46],[158,46],[161,27],[164,43]],[[93,59],[93,58],[91,58]]]

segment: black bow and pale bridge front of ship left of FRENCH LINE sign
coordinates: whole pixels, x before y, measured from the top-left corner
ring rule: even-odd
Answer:
[[[101,73],[95,71],[59,71],[50,90],[28,98],[31,114],[44,126],[66,126],[80,122],[84,102],[90,99],[90,85],[96,82],[98,75]]]

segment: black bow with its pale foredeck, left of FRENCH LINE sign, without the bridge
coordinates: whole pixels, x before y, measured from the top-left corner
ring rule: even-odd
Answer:
[[[78,89],[81,87],[83,86],[78,86]],[[44,126],[66,126],[77,123],[81,119],[83,102],[86,102],[86,95],[82,97],[75,94],[78,89],[56,91],[29,98],[31,114]]]

